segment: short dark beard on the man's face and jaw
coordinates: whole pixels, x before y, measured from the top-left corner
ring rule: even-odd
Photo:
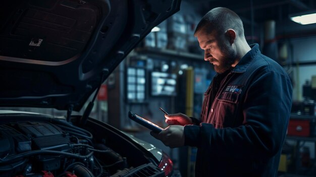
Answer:
[[[227,70],[231,70],[233,68],[232,64],[234,64],[236,61],[237,54],[232,48],[229,48],[226,44],[223,43],[221,49],[223,52],[223,57],[219,58],[220,60],[218,60],[218,66],[214,65],[214,70],[217,73],[224,73]]]

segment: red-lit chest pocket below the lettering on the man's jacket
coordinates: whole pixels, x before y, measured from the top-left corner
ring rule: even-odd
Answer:
[[[219,127],[234,127],[237,117],[237,109],[239,105],[240,93],[222,92],[217,98],[215,105],[215,124]]]

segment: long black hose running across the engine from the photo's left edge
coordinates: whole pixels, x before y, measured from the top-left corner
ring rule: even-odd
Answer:
[[[26,156],[37,155],[37,154],[57,154],[57,155],[65,155],[68,157],[87,159],[93,155],[93,151],[90,152],[88,155],[77,155],[77,154],[72,154],[69,152],[61,152],[61,151],[53,151],[53,150],[35,150],[35,151],[30,151],[30,152],[24,152],[17,155],[8,156],[6,157],[6,159],[0,158],[0,163],[10,162],[19,158],[24,158]]]

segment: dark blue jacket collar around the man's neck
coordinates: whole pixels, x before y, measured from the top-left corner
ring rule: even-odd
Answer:
[[[238,62],[236,67],[233,69],[232,73],[244,73],[251,61],[253,60],[253,56],[260,53],[259,45],[257,43],[249,45],[251,50],[249,50]]]

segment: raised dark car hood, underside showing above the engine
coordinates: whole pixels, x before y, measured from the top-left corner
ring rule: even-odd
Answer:
[[[0,6],[0,106],[81,109],[180,0],[11,0]]]

